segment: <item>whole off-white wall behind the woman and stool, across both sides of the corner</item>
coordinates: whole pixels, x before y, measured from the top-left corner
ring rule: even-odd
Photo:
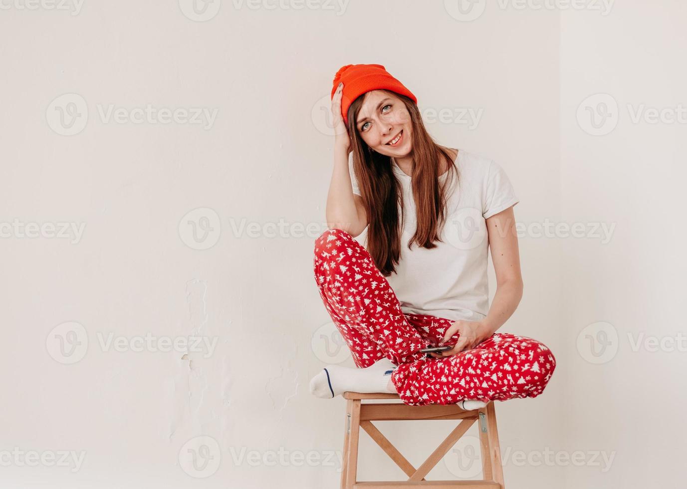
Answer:
[[[308,380],[352,365],[312,270],[333,164],[329,93],[349,63],[385,65],[437,141],[499,161],[521,199],[526,287],[502,330],[540,339],[558,367],[539,398],[497,403],[509,487],[677,482],[657,467],[679,456],[684,428],[665,415],[684,399],[684,352],[632,352],[627,332],[684,329],[671,306],[684,290],[673,242],[684,240],[685,126],[632,124],[625,111],[592,136],[576,113],[600,92],[621,106],[685,102],[684,6],[624,2],[602,15],[478,0],[470,20],[450,1],[235,0],[204,14],[186,0],[75,1],[7,0],[0,12],[3,487],[337,486],[344,403],[313,398]],[[148,105],[202,109],[202,124],[134,110]],[[431,110],[449,120],[431,122]],[[532,231],[576,222],[617,225],[604,244]],[[51,223],[79,234],[51,237]],[[620,345],[596,365],[578,334],[599,321]],[[146,334],[158,342],[127,348]],[[190,335],[210,348],[160,351]],[[417,466],[453,423],[379,426]],[[475,476],[473,441],[428,477]],[[203,442],[212,460],[194,472],[185,456]],[[83,459],[22,466],[14,447]],[[548,450],[583,451],[585,464],[518,458]],[[616,452],[610,470],[593,451]],[[384,478],[402,473],[361,435],[359,479]]]

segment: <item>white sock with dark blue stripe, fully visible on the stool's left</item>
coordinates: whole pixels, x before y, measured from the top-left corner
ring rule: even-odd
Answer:
[[[396,387],[391,381],[394,369],[396,365],[387,358],[365,368],[327,365],[311,379],[310,393],[323,399],[331,399],[346,391],[397,394]]]

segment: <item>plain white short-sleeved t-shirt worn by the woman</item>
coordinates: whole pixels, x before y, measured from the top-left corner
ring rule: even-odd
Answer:
[[[403,185],[405,224],[400,262],[387,281],[407,314],[479,321],[489,310],[486,218],[519,199],[506,172],[492,159],[459,148],[456,166],[460,188],[455,191],[454,176],[447,189],[447,220],[439,234],[443,242],[435,242],[433,249],[416,243],[408,249],[417,226],[411,177],[393,163],[394,174]],[[349,168],[353,192],[360,194],[352,166]],[[439,177],[442,183],[447,178],[447,173]],[[362,236],[366,232],[358,238]]]

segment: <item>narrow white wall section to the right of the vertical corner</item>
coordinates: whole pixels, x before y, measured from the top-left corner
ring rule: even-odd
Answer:
[[[568,365],[558,380],[567,386],[566,444],[616,452],[606,473],[569,466],[567,487],[684,486],[671,468],[681,463],[687,435],[680,421],[687,341],[678,313],[687,270],[680,249],[687,6],[617,2],[605,17],[561,19],[563,217],[616,226],[605,244],[563,241],[561,359]],[[607,95],[587,100],[598,93]],[[609,107],[605,125],[600,103]],[[594,111],[601,134],[589,134],[588,110],[578,122],[581,104]],[[682,122],[671,123],[681,107]],[[666,122],[651,122],[652,111]]]

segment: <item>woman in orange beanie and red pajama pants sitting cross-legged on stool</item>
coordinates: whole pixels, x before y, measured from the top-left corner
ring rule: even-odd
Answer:
[[[328,365],[311,393],[391,392],[408,405],[463,409],[539,396],[552,352],[496,332],[522,297],[518,198],[495,161],[436,144],[416,104],[382,65],[346,65],[334,78],[330,229],[315,240],[313,267],[357,368]],[[365,228],[367,249],[353,239]],[[444,343],[453,348],[419,351]]]

